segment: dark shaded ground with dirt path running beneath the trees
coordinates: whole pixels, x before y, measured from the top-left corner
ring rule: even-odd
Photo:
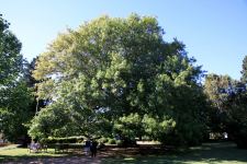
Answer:
[[[0,152],[1,157],[1,152]],[[5,156],[8,157],[8,156]],[[32,159],[18,157],[16,161],[7,163],[30,163],[30,164],[99,164],[99,163],[222,163],[232,164],[247,163],[247,150],[237,149],[232,142],[204,143],[202,147],[190,148],[189,150],[173,151],[159,147],[141,147],[141,148],[106,148],[98,153],[97,157],[90,157],[82,154],[81,151],[72,152],[67,156],[60,157],[42,157],[33,156]]]

